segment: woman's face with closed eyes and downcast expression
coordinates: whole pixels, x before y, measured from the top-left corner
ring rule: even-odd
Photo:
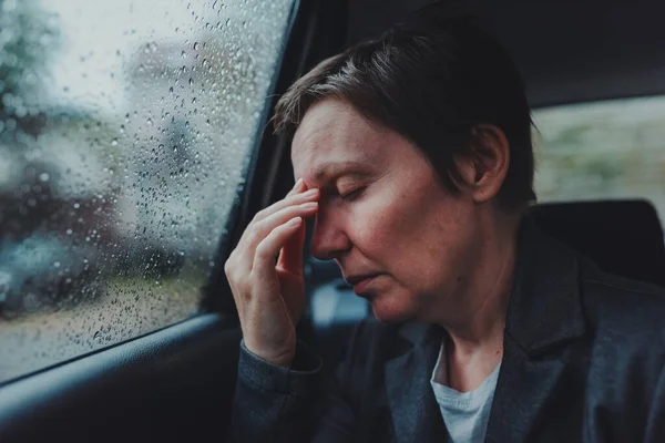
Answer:
[[[477,205],[447,192],[419,150],[325,99],[305,114],[291,161],[295,176],[321,190],[313,255],[335,259],[379,320],[431,321],[454,309],[478,258]],[[367,276],[376,277],[358,282]]]

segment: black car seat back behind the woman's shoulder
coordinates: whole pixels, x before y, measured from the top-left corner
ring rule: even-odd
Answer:
[[[591,258],[603,270],[665,286],[663,228],[647,200],[538,204],[543,231]]]

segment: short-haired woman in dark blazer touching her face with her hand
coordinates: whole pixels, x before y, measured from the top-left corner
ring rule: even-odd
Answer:
[[[524,217],[529,105],[472,19],[424,11],[324,61],[275,123],[299,179],[226,262],[244,337],[234,441],[665,441],[663,292]],[[313,254],[376,317],[332,392],[295,332],[307,217]]]

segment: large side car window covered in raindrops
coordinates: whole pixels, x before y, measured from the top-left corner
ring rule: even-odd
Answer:
[[[0,2],[0,382],[197,313],[291,3]]]

